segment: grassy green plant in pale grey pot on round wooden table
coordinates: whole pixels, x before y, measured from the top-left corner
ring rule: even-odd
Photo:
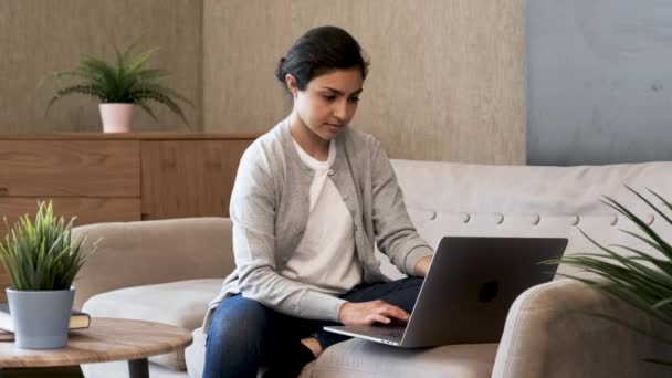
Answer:
[[[82,248],[84,238],[71,240],[73,221],[56,219],[51,202],[39,202],[34,222],[23,216],[0,242],[0,262],[12,283],[7,297],[20,348],[67,344],[72,283],[88,255]]]

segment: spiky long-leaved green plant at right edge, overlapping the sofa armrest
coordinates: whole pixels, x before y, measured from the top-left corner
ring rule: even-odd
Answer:
[[[672,203],[670,201],[650,189],[649,193],[652,198],[647,198],[644,195],[630,187],[627,188],[655,211],[655,213],[665,221],[666,224],[663,223],[664,225],[672,225]],[[660,201],[660,204],[655,204],[653,201]],[[622,244],[605,245],[581,231],[581,233],[588,238],[601,253],[577,253],[549,263],[563,263],[592,273],[592,277],[577,275],[566,276],[613,295],[652,317],[660,319],[663,324],[672,326],[671,242],[665,241],[645,221],[615,199],[605,197],[602,202],[624,216],[637,227],[637,231],[621,230],[621,232],[627,233],[634,240],[643,242],[649,249],[644,251],[639,248]],[[651,334],[610,314],[590,315],[617,322],[636,332],[654,337],[666,345],[672,345],[672,339]],[[648,360],[658,364],[672,365],[672,361],[668,360]]]

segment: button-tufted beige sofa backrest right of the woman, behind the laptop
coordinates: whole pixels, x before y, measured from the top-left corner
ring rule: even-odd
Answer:
[[[672,200],[669,161],[542,167],[392,160],[392,167],[413,223],[433,248],[444,235],[565,237],[566,254],[597,252],[580,230],[606,244],[642,246],[620,231],[633,225],[600,202],[602,196],[626,204],[672,240],[672,225],[624,187],[650,188]],[[381,262],[386,274],[400,275],[386,258]]]

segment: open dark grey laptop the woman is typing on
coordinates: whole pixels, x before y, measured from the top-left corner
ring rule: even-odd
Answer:
[[[402,348],[498,343],[525,290],[553,280],[565,238],[444,237],[407,324],[324,329]]]

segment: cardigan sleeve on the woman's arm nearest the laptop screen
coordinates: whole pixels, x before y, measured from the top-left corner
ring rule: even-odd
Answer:
[[[418,261],[433,254],[432,248],[418,234],[406,204],[392,165],[374,139],[371,147],[372,219],[376,244],[397,269],[414,275]]]

